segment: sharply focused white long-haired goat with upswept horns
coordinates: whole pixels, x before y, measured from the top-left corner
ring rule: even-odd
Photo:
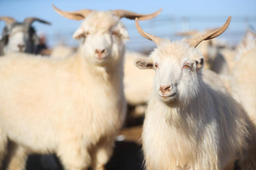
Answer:
[[[204,58],[195,49],[222,34],[230,20],[208,34],[171,42],[144,32],[136,19],[138,32],[157,44],[149,58],[134,61],[156,71],[142,134],[146,169],[232,169],[238,156],[243,169],[256,169],[255,127],[218,75],[202,75]]]

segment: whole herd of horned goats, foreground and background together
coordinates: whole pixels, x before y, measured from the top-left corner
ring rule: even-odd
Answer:
[[[33,153],[55,153],[66,170],[104,170],[127,102],[147,101],[146,170],[232,170],[235,162],[242,170],[256,170],[255,33],[247,32],[232,60],[224,57],[228,73],[217,74],[203,69],[212,67],[213,58],[196,47],[221,35],[231,17],[217,30],[171,41],[139,26],[139,20],[161,10],[141,15],[53,8],[65,18],[83,20],[73,34],[82,40],[76,53],[28,54],[38,43],[32,22],[49,23],[0,18],[6,22],[0,41],[0,160],[8,170],[25,170]],[[132,66],[133,57],[124,58],[129,36],[123,17],[135,19],[138,32],[155,42],[148,58],[140,55],[133,62],[154,74]]]

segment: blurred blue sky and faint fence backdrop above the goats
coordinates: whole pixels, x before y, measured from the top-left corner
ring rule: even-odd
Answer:
[[[17,21],[23,21],[24,18],[31,16],[45,19],[52,25],[47,26],[35,22],[33,26],[39,35],[46,35],[48,47],[52,48],[60,43],[72,47],[78,46],[79,41],[72,39],[72,34],[80,26],[81,21],[73,21],[58,15],[53,10],[52,4],[66,11],[83,8],[92,10],[123,9],[143,14],[163,8],[160,16],[149,21],[142,21],[140,25],[148,33],[168,37],[171,40],[183,38],[183,36],[176,35],[177,32],[203,31],[222,26],[228,16],[232,16],[230,26],[217,39],[237,44],[247,27],[256,28],[255,0],[233,0],[232,2],[223,0],[0,0],[0,16],[11,16]],[[148,51],[155,46],[153,42],[139,35],[133,20],[123,18],[122,22],[127,27],[130,36],[130,41],[127,42],[128,50]],[[1,30],[4,26],[5,23],[0,22]]]

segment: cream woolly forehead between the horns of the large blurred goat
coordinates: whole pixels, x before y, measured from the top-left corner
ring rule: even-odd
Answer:
[[[92,11],[83,21],[81,27],[90,33],[106,33],[118,22],[119,18],[111,11]]]

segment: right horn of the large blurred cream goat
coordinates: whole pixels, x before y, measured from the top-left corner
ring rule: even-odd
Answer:
[[[123,17],[129,18],[129,19],[138,18],[139,20],[146,20],[146,19],[155,18],[156,16],[158,16],[160,14],[161,11],[162,11],[162,8],[160,10],[154,12],[154,13],[147,14],[147,15],[142,15],[142,14],[139,14],[139,13],[126,11],[126,10],[112,10],[114,15],[116,15],[120,18],[123,18]]]

